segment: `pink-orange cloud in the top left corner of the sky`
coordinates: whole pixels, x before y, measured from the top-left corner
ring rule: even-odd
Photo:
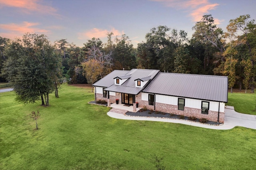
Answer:
[[[38,12],[40,14],[50,14],[59,16],[56,14],[57,10],[51,6],[40,4],[39,0],[1,0],[0,8],[12,7],[19,8],[23,13],[32,14],[32,12]],[[34,14],[34,13],[33,13]]]

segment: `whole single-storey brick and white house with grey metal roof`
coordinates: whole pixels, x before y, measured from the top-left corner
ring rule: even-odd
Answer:
[[[228,77],[162,73],[160,70],[114,70],[96,83],[95,100],[134,105],[147,109],[206,118],[224,123],[228,102]]]

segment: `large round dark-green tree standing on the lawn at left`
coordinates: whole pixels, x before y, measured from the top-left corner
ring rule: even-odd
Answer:
[[[9,56],[2,75],[13,85],[16,100],[34,103],[41,97],[49,106],[49,93],[54,91],[54,81],[62,71],[61,60],[45,35],[24,34],[8,45]]]

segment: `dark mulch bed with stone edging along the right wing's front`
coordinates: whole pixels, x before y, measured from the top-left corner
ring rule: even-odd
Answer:
[[[137,112],[127,112],[126,115],[133,116],[133,117],[180,119],[180,120],[185,120],[185,121],[203,123],[203,124],[207,124],[207,125],[217,125],[217,126],[223,124],[223,123],[212,122],[212,121],[208,121],[208,120],[197,119],[195,117],[186,117],[183,115],[174,115],[174,114],[170,114],[170,113],[163,113],[163,112],[158,112],[158,111],[142,110],[142,109]],[[206,121],[206,122],[202,122],[202,121]]]

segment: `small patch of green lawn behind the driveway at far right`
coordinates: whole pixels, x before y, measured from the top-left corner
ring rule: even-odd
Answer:
[[[234,106],[239,113],[256,115],[256,93],[228,93],[226,105]]]

